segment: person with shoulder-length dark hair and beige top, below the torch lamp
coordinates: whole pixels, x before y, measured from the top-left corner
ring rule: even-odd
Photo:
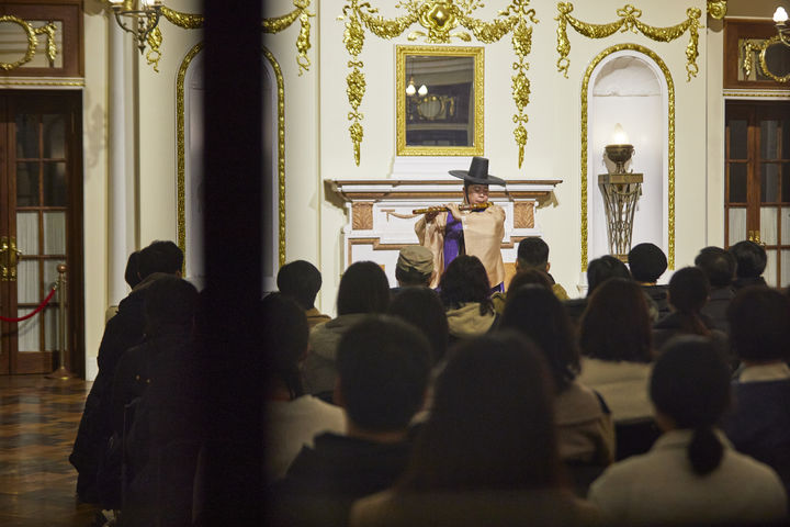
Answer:
[[[636,282],[613,278],[596,289],[582,315],[578,379],[603,396],[616,423],[653,415],[651,338],[647,303]]]

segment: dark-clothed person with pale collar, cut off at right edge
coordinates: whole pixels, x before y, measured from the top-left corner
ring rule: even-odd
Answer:
[[[741,368],[724,431],[740,452],[776,470],[790,494],[790,299],[768,288],[742,289],[729,316]]]

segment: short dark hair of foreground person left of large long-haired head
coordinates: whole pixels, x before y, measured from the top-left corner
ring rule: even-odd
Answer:
[[[368,430],[408,426],[425,402],[430,345],[413,325],[371,315],[340,338],[339,386],[349,418]]]

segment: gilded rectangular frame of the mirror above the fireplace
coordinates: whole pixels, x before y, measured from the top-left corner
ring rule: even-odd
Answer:
[[[447,145],[409,145],[407,144],[406,88],[407,58],[410,56],[432,57],[472,57],[474,60],[474,79],[472,82],[472,97],[470,116],[474,123],[472,144],[469,146]],[[396,79],[396,149],[398,156],[482,156],[484,155],[484,115],[485,115],[485,48],[477,46],[396,46],[395,79]],[[432,97],[432,96],[428,96]]]

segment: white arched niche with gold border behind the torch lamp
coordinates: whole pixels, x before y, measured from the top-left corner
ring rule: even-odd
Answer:
[[[582,88],[582,270],[609,254],[598,175],[607,172],[603,147],[620,123],[634,145],[629,169],[644,173],[632,246],[650,242],[675,260],[675,88],[651,49],[621,44],[601,52]],[[584,272],[583,272],[583,283]]]

